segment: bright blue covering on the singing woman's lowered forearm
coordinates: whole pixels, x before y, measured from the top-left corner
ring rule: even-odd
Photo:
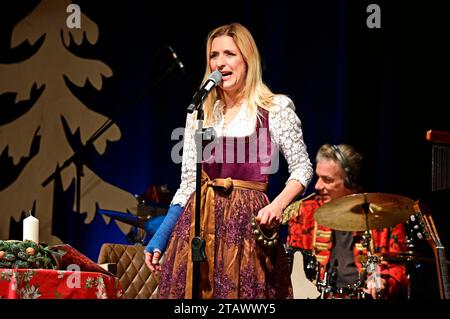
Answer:
[[[145,248],[146,252],[151,253],[155,249],[159,249],[161,252],[165,251],[170,234],[172,234],[172,230],[175,227],[178,217],[180,217],[182,211],[183,207],[178,204],[171,205],[169,207],[164,221],[161,223],[161,226],[159,226],[155,235],[152,237],[147,247]]]

